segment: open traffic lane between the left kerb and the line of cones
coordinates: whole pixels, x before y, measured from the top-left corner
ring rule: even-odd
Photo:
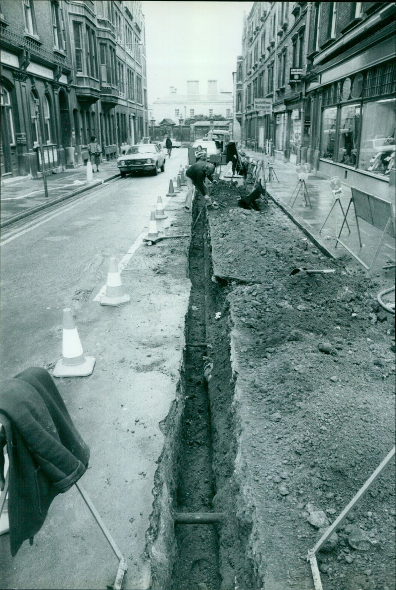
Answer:
[[[148,228],[158,196],[185,163],[174,150],[158,176],[127,176],[78,195],[2,231],[2,375],[45,365],[59,355],[62,309],[78,310],[101,289],[108,258],[124,257]],[[78,326],[79,327],[79,326]]]

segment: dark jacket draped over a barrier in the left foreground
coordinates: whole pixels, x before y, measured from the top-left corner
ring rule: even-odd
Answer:
[[[0,488],[9,458],[11,555],[41,529],[49,506],[88,467],[89,448],[78,434],[51,375],[30,368],[0,385]]]

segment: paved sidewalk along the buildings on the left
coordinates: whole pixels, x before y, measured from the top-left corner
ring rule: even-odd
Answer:
[[[48,198],[45,197],[42,178],[31,179],[28,176],[18,176],[15,179],[7,179],[1,186],[0,227],[16,219],[27,217],[33,212],[31,209],[44,208],[55,201],[86,191],[118,175],[117,160],[102,162],[99,172],[94,173],[91,183],[86,181],[86,166],[66,169],[64,172],[46,176]]]

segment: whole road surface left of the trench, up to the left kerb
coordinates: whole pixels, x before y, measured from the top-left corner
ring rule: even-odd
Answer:
[[[164,445],[160,424],[179,382],[191,214],[182,210],[185,191],[166,194],[186,161],[179,150],[157,177],[111,181],[2,231],[2,378],[29,366],[51,372],[62,356],[62,309],[71,307],[84,353],[96,364],[91,376],[56,385],[91,450],[82,486],[128,560],[126,590],[149,586],[144,547]],[[167,204],[164,230],[187,237],[141,245],[158,196]],[[131,297],[121,307],[95,299],[110,256],[124,267]],[[75,487],[55,498],[34,546],[25,542],[11,558],[2,535],[0,554],[2,588],[106,588],[118,567]]]

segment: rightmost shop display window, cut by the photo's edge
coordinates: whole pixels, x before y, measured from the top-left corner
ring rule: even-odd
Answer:
[[[365,103],[358,168],[379,176],[390,173],[395,158],[395,99]]]

